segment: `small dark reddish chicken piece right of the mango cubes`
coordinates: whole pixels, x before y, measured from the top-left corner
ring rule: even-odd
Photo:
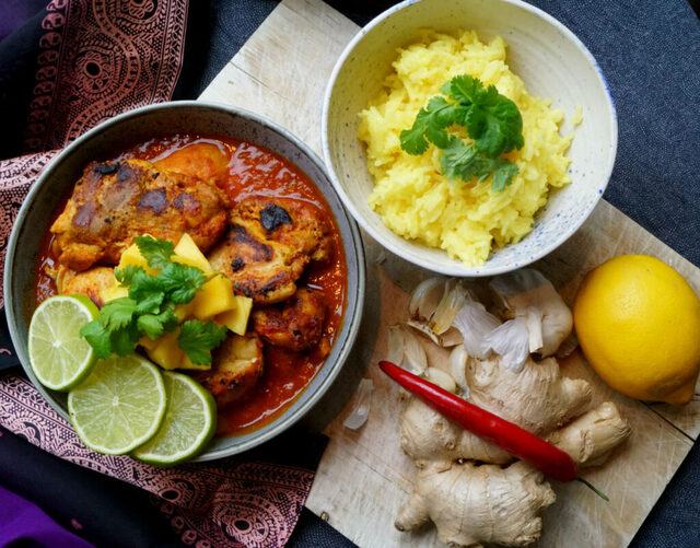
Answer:
[[[294,352],[314,348],[320,341],[326,299],[323,291],[300,288],[282,307],[255,310],[253,329],[270,345]]]

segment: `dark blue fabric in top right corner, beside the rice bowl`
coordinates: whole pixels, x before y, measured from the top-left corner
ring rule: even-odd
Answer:
[[[700,266],[700,21],[690,4],[530,3],[581,38],[610,84],[619,144],[605,198]]]

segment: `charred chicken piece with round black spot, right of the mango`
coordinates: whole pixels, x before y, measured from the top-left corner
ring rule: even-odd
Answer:
[[[329,229],[318,209],[301,200],[260,197],[232,210],[226,235],[209,261],[231,278],[236,293],[254,304],[271,304],[296,291],[310,261],[329,255]]]

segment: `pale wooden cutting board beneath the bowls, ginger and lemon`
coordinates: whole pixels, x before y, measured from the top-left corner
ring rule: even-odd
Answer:
[[[284,0],[202,93],[201,100],[240,106],[277,121],[320,155],[326,82],[359,27],[319,0]],[[398,389],[376,366],[387,327],[405,318],[408,294],[430,276],[384,252],[364,235],[368,289],[354,351],[328,396],[307,417],[330,438],[306,505],[361,547],[443,546],[434,528],[399,533],[394,517],[411,489],[413,466],[399,448]],[[700,270],[606,201],[558,250],[535,265],[571,304],[582,277],[623,253],[660,257],[700,292]],[[563,365],[594,386],[594,403],[611,399],[633,433],[608,464],[585,477],[610,497],[557,483],[558,500],[544,513],[540,547],[627,546],[700,432],[700,399],[684,407],[643,405],[615,394],[578,352]],[[342,425],[362,377],[374,393],[368,423]]]

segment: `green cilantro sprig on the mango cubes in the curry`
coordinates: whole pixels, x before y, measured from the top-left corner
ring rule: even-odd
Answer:
[[[115,278],[129,289],[129,296],[105,303],[97,319],[80,330],[97,358],[113,352],[130,354],[142,336],[158,339],[174,331],[178,324],[175,306],[190,302],[207,281],[199,268],[171,260],[172,242],[138,236],[136,244],[149,267],[160,272],[150,275],[138,265],[115,270]],[[209,364],[211,350],[225,335],[226,328],[211,320],[205,324],[190,319],[180,327],[177,342],[192,363]]]

